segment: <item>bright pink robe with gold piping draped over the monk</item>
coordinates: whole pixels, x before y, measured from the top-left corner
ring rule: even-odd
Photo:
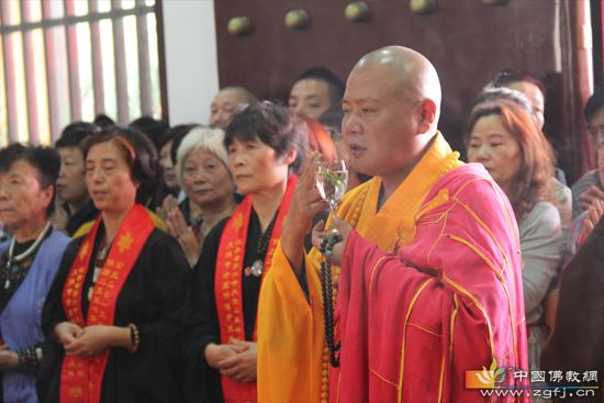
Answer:
[[[415,236],[388,255],[356,232],[339,280],[336,402],[529,402],[466,389],[466,371],[506,367],[526,387],[518,230],[503,191],[470,164],[443,176],[415,217]],[[336,335],[337,336],[337,335]]]

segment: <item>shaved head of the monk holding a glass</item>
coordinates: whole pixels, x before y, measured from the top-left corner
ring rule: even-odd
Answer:
[[[440,97],[436,69],[420,53],[388,46],[363,56],[343,99],[353,168],[402,181],[436,134]]]

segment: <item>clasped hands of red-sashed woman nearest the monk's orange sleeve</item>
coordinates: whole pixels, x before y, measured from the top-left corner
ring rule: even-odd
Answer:
[[[256,343],[233,339],[231,344],[210,344],[205,348],[205,360],[210,367],[237,382],[256,380]]]

